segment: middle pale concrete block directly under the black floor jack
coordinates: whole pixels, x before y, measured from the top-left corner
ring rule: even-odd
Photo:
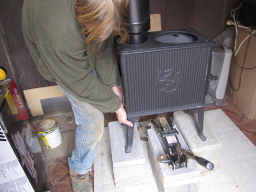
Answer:
[[[179,130],[178,130],[179,131]],[[178,137],[181,147],[187,149],[184,140]],[[155,129],[148,129],[148,156],[154,172],[159,191],[198,191],[198,175],[200,168],[194,161],[189,162],[188,168],[172,170],[167,164],[159,163],[157,157],[164,154],[161,141]]]

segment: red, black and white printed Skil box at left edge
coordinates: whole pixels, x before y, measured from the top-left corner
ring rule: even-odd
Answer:
[[[46,159],[14,79],[0,90],[0,191],[45,191]]]

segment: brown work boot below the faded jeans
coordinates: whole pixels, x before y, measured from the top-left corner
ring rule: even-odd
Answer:
[[[93,186],[89,178],[89,172],[87,174],[77,174],[70,168],[70,179],[73,192],[93,192]]]

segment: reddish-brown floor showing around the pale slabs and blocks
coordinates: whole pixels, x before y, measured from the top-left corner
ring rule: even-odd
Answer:
[[[223,105],[205,107],[205,110],[222,109],[224,113],[234,122],[244,135],[256,145],[256,120],[249,120],[242,112],[228,99],[225,98]],[[170,113],[171,115],[171,113]],[[140,121],[147,121],[155,116],[144,116]],[[109,121],[116,121],[114,113],[105,114],[105,125],[108,126]],[[90,178],[93,182],[93,171],[90,172]],[[68,174],[67,157],[48,159],[47,160],[47,181],[48,188],[51,192],[72,192],[70,176]]]

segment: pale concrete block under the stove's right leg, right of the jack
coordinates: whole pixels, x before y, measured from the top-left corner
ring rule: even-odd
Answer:
[[[207,113],[211,116],[211,113]],[[186,114],[183,111],[174,112],[174,124],[180,130],[182,136],[186,140],[191,151],[201,158],[207,159],[215,165],[215,169],[219,167],[219,158],[221,153],[221,142],[216,133],[214,133],[208,126],[204,126],[203,133],[207,137],[206,141],[202,141],[198,136],[197,128],[197,114]],[[207,118],[205,118],[207,119]],[[205,124],[205,122],[204,122]],[[201,171],[207,169],[201,167]]]

